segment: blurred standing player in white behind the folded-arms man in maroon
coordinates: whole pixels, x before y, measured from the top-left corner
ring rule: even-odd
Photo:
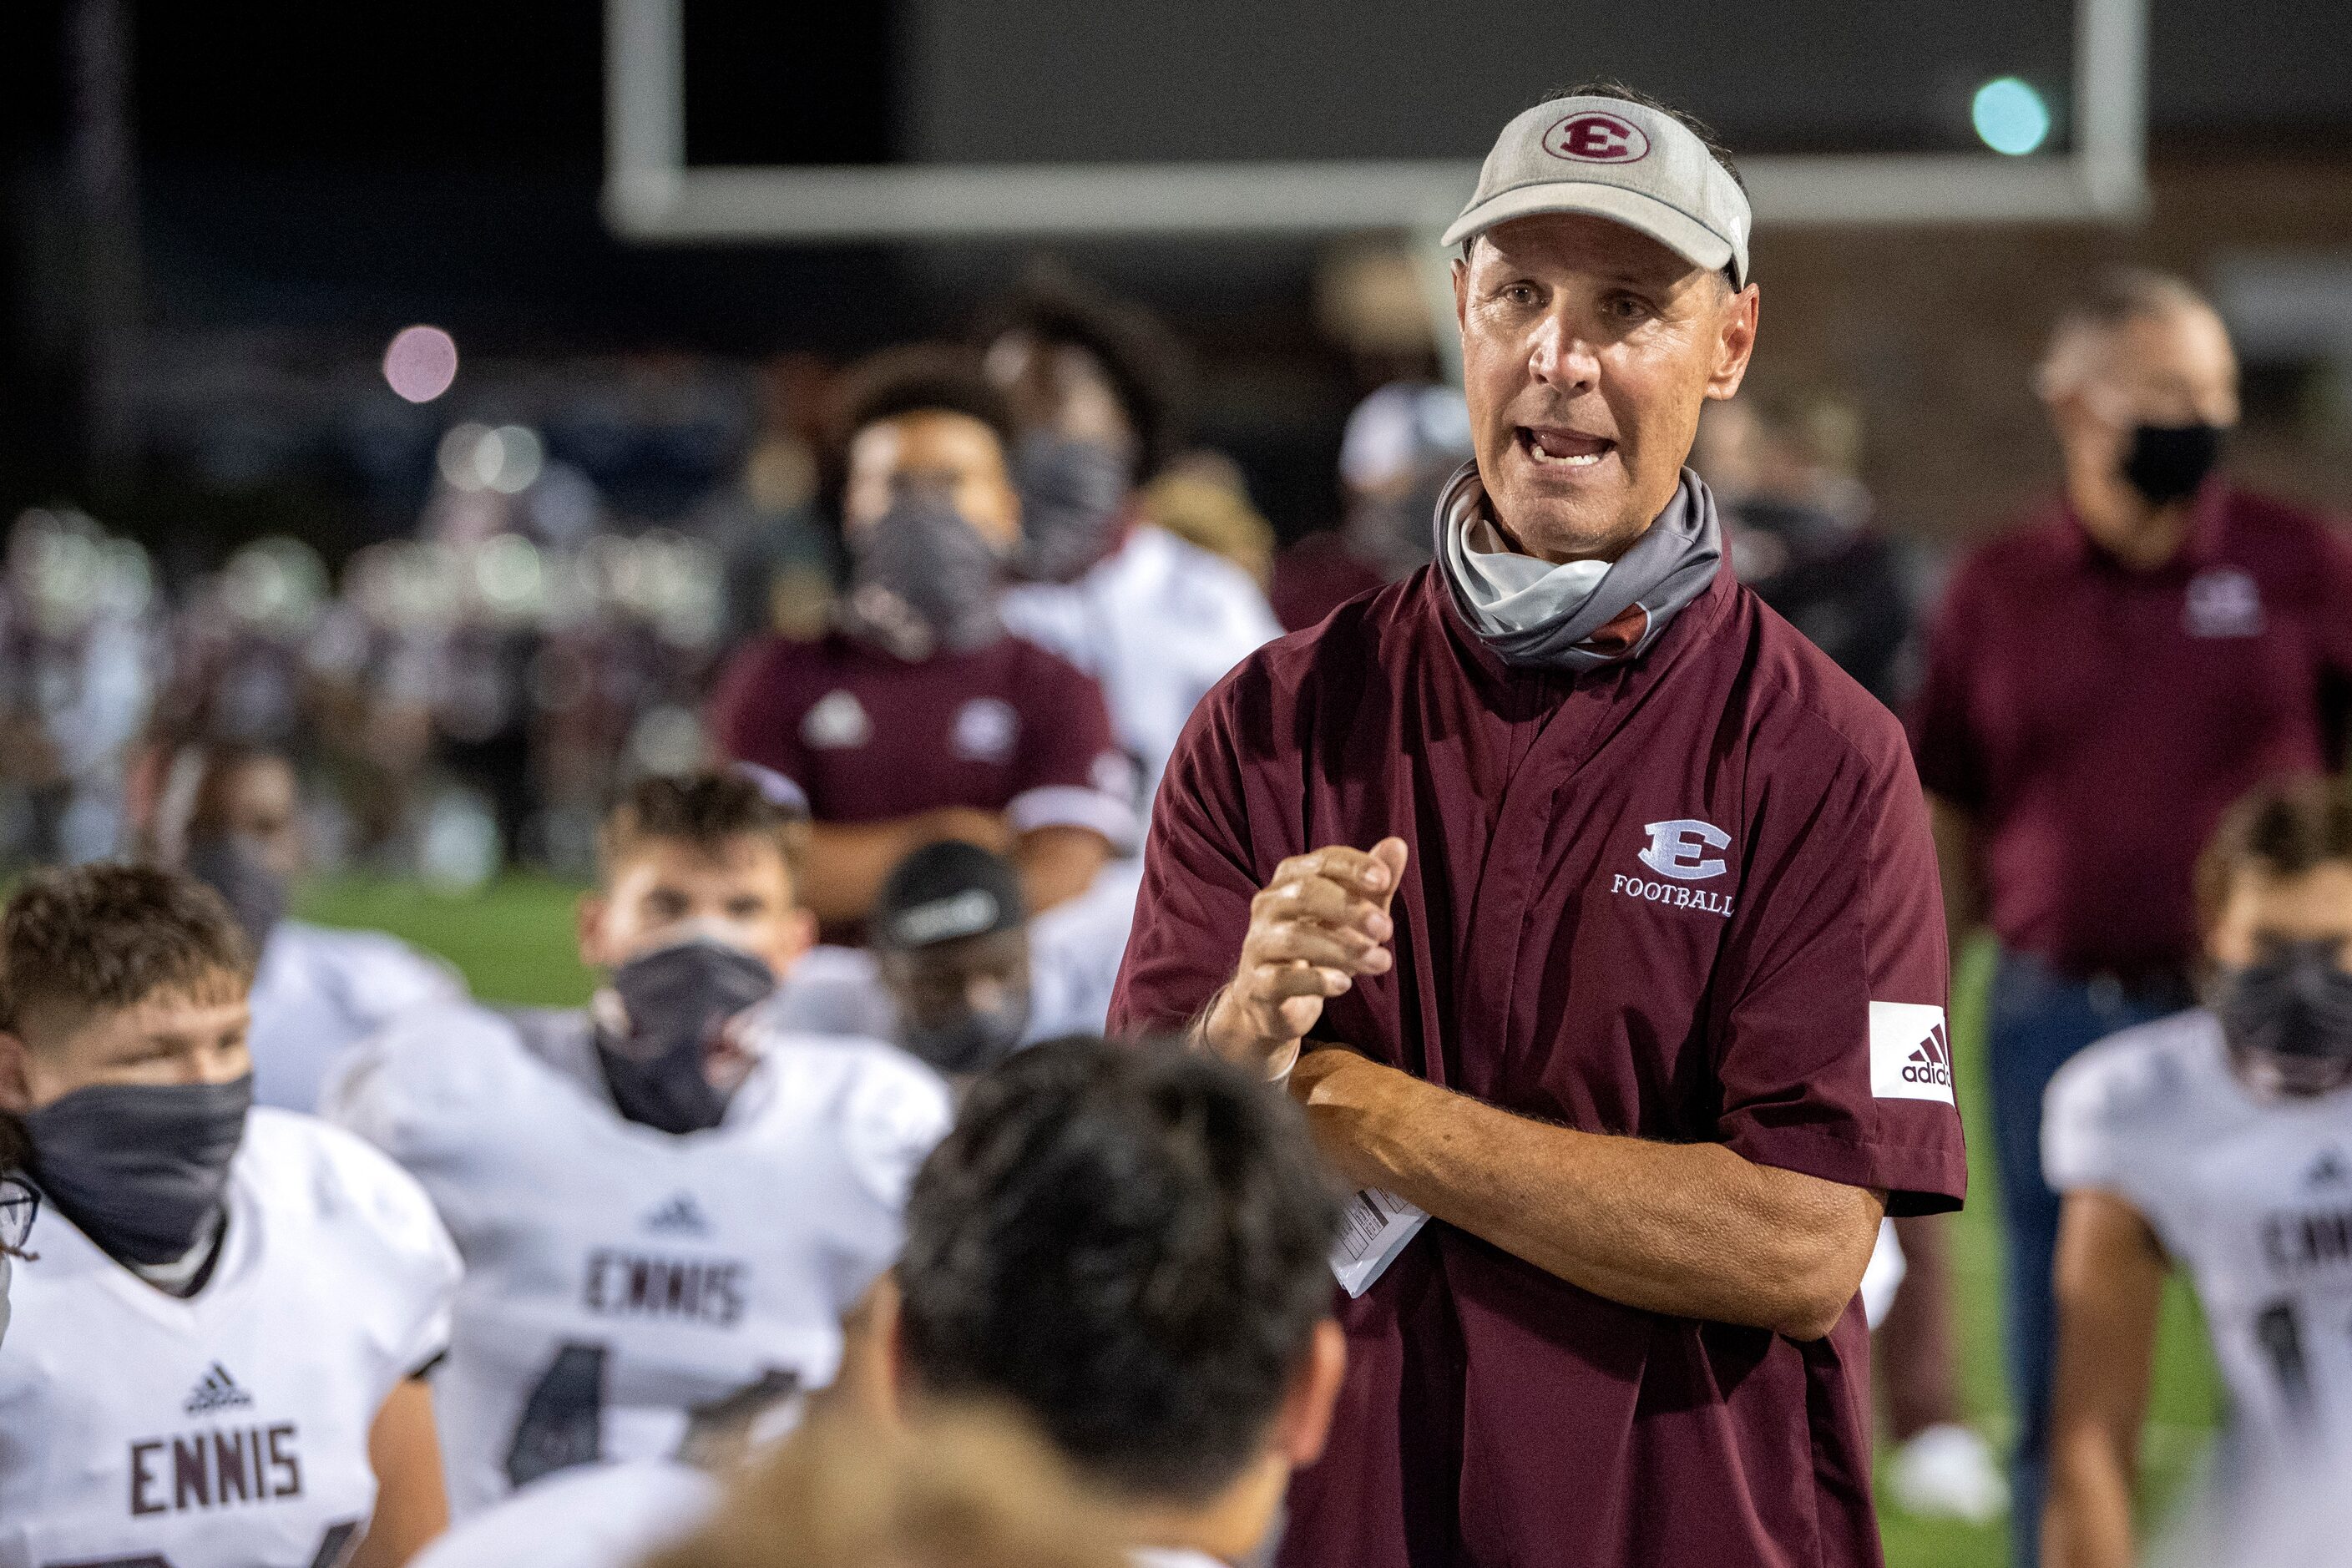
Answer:
[[[1171,355],[1148,317],[1044,289],[1000,310],[983,362],[1021,423],[1004,625],[1103,684],[1145,806],[1202,693],[1282,635],[1247,571],[1136,512],[1174,456]]]

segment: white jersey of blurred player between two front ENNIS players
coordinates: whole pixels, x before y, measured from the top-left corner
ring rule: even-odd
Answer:
[[[463,999],[454,969],[397,936],[282,919],[254,966],[254,1100],[318,1110],[327,1063],[346,1046],[412,1006]]]

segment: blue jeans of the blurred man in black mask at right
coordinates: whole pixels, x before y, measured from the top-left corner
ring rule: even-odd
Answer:
[[[2091,1041],[2187,1004],[2183,985],[2124,987],[2112,976],[2077,980],[2009,950],[2002,950],[1992,971],[1985,1065],[2009,1260],[2009,1403],[2018,1418],[2018,1448],[2009,1462],[2011,1568],[2037,1568],[2042,1561],[2051,1371],[2058,1359],[2058,1307],[2051,1298],[2058,1194],[2042,1180],[2042,1093],[2067,1058]]]

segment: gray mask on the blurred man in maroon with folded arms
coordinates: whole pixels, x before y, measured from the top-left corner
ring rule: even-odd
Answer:
[[[976,649],[1002,632],[1004,562],[946,496],[917,489],[849,538],[847,628],[906,661]]]

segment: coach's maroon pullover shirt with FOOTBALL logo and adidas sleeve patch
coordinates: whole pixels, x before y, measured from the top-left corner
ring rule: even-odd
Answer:
[[[1903,731],[1729,569],[1630,665],[1505,668],[1423,569],[1251,656],[1152,809],[1122,1032],[1232,976],[1284,856],[1411,844],[1397,964],[1315,1034],[1524,1117],[1959,1204]],[[1693,1215],[1693,1225],[1710,1222]],[[1867,1566],[1867,1331],[1625,1307],[1430,1222],[1338,1302],[1287,1568]]]

